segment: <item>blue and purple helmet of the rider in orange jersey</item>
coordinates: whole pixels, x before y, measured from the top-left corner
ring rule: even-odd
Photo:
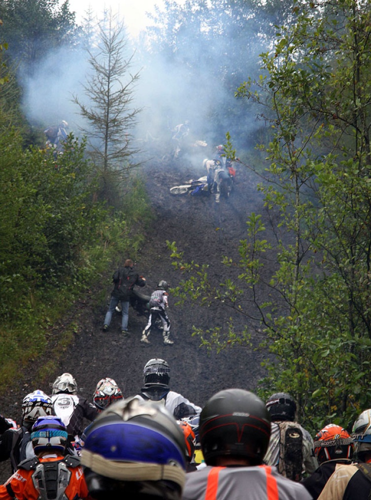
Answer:
[[[40,416],[32,425],[31,441],[35,455],[49,450],[63,453],[67,438],[66,426],[58,416]]]

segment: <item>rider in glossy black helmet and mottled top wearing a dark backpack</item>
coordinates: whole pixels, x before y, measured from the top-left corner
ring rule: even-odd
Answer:
[[[282,475],[290,477],[291,479],[293,478],[293,476],[291,477],[293,471],[288,470],[290,465],[296,468],[295,475],[298,476],[298,479],[295,480],[301,479],[300,476],[302,471],[305,471],[307,474],[312,474],[318,467],[318,461],[314,456],[313,439],[304,427],[294,421],[296,403],[293,398],[287,392],[276,392],[268,397],[265,405],[272,424],[269,445],[264,456],[264,462],[267,465],[276,465]],[[280,448],[282,447],[281,431],[289,427],[295,428],[296,431],[293,435],[301,439],[301,446],[297,450],[298,456],[302,458],[301,467],[300,464],[297,463],[297,460],[293,460],[293,463],[290,464],[288,460],[285,462],[284,456],[280,452]],[[301,434],[301,436],[298,434]]]

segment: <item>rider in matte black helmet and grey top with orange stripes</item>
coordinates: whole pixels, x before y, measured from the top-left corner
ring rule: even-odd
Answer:
[[[211,396],[199,418],[206,467],[186,475],[183,500],[310,500],[302,484],[263,465],[270,416],[264,402],[244,389]]]

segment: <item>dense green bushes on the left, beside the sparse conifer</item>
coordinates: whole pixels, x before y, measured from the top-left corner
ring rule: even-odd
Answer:
[[[9,316],[35,291],[78,278],[106,212],[92,201],[91,165],[72,137],[56,161],[45,150],[24,151],[7,127],[0,151],[0,314]]]

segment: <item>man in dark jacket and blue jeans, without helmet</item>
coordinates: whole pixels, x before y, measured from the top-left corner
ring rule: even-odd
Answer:
[[[128,333],[127,323],[129,319],[129,301],[132,289],[135,285],[145,285],[145,278],[139,276],[139,274],[134,271],[133,267],[133,261],[128,258],[125,260],[123,267],[118,268],[112,276],[114,287],[111,293],[109,307],[104,318],[103,331],[107,331],[112,319],[112,313],[118,302],[121,302],[121,332],[124,335]]]

